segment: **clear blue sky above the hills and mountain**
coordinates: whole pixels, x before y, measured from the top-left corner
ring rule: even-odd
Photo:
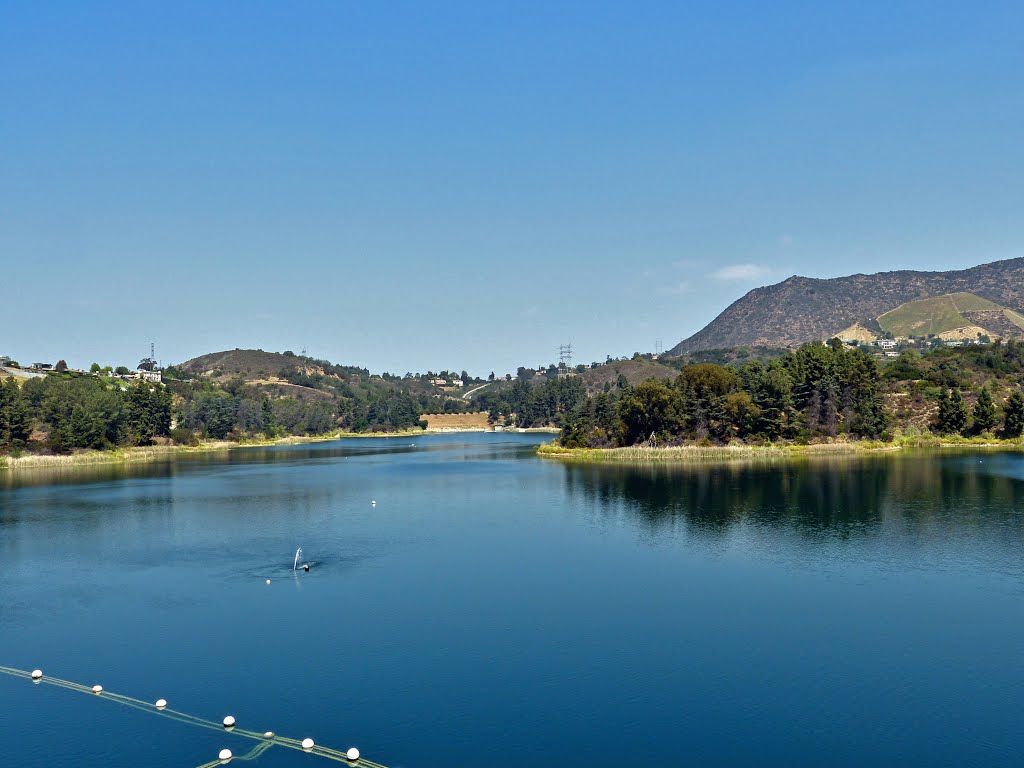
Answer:
[[[486,374],[1024,255],[1017,2],[0,1],[0,354]]]

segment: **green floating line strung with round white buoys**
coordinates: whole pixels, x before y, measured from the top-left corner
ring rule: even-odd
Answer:
[[[309,737],[302,739],[289,738],[288,736],[279,736],[272,731],[257,732],[246,730],[244,728],[227,726],[228,721],[232,724],[236,722],[233,717],[227,716],[224,718],[223,722],[219,723],[215,720],[206,720],[205,718],[201,718],[196,715],[189,715],[186,712],[171,710],[167,707],[167,701],[163,698],[158,699],[156,702],[143,701],[140,698],[133,698],[132,696],[126,696],[122,693],[114,693],[100,685],[82,685],[81,683],[75,683],[71,680],[61,680],[60,678],[50,677],[49,675],[44,675],[41,670],[27,672],[26,670],[18,670],[13,667],[0,667],[0,673],[10,677],[31,680],[33,683],[37,684],[45,683],[46,685],[67,688],[68,690],[73,690],[78,693],[87,693],[93,698],[102,698],[108,701],[114,701],[115,703],[119,703],[124,707],[131,707],[132,709],[147,712],[151,715],[157,715],[178,723],[184,723],[185,725],[194,725],[199,728],[207,728],[220,733],[230,733],[234,736],[244,736],[245,738],[259,741],[256,746],[245,755],[232,755],[229,750],[222,750],[220,755],[223,757],[218,757],[216,760],[203,763],[203,765],[199,766],[199,768],[214,768],[214,766],[224,765],[232,760],[256,760],[271,746],[283,746],[288,750],[297,750],[298,752],[304,752],[307,755],[316,755],[325,758],[326,760],[332,760],[336,763],[345,763],[349,766],[386,768],[386,766],[381,765],[380,763],[375,763],[372,760],[364,758],[359,755],[359,751],[354,746],[342,752],[341,750],[334,750],[330,746],[314,743]]]

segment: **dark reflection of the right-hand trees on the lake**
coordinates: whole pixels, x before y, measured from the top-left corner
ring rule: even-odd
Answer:
[[[852,536],[900,518],[998,525],[1024,518],[1024,457],[912,454],[690,466],[568,464],[566,484],[596,514],[626,506],[652,528],[739,523]]]

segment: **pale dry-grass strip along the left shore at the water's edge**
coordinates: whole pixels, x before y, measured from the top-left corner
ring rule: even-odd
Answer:
[[[213,454],[217,452],[236,451],[247,447],[269,447],[273,445],[300,445],[313,442],[331,442],[333,440],[384,437],[418,437],[433,434],[455,434],[460,432],[489,432],[492,430],[469,428],[441,429],[404,429],[395,432],[332,432],[324,435],[288,435],[287,437],[252,438],[243,440],[206,440],[198,445],[136,445],[132,447],[114,449],[112,451],[82,450],[77,453],[30,454],[18,457],[0,456],[0,472],[18,469],[48,469],[57,467],[78,467],[96,464],[145,464],[168,459],[173,456],[187,454]],[[548,432],[559,430],[549,427],[527,429],[508,429],[510,433]],[[503,434],[503,432],[498,432]]]

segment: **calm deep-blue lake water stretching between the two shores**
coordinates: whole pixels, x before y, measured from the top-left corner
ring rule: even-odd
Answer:
[[[1024,764],[1024,457],[571,466],[543,439],[0,472],[0,665],[393,768]],[[0,675],[0,765],[251,745]]]

